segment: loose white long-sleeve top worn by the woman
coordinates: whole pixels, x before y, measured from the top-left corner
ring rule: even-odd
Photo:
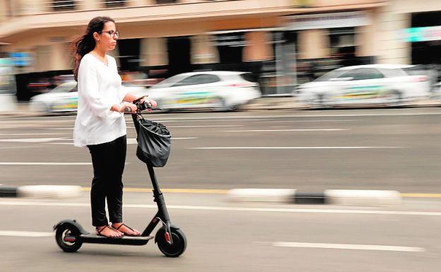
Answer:
[[[108,64],[86,54],[78,69],[78,114],[73,128],[73,145],[85,147],[107,143],[127,134],[124,114],[110,110],[127,95],[121,88],[117,62]]]

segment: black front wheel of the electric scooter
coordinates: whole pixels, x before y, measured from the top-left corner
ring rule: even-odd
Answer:
[[[155,242],[158,243],[160,252],[163,252],[165,256],[176,258],[184,253],[187,248],[187,238],[180,229],[172,228],[171,232],[172,244],[167,242],[164,227],[161,227],[158,232],[156,232]]]

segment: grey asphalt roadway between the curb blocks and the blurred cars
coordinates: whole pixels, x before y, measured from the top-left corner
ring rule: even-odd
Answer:
[[[441,193],[441,109],[151,114],[172,131],[163,188],[394,189]],[[0,119],[0,184],[90,186],[75,116]],[[127,116],[126,187],[148,187]],[[60,165],[61,162],[61,165]]]

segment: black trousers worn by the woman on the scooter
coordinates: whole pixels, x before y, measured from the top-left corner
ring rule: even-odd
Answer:
[[[92,225],[108,225],[105,201],[112,223],[122,222],[122,172],[126,162],[127,136],[108,143],[88,146],[93,164],[90,189]]]

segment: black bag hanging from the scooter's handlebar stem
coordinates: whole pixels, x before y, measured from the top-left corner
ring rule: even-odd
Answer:
[[[137,123],[139,130],[136,156],[148,165],[163,167],[170,156],[172,134],[163,124],[143,118],[138,119]]]

